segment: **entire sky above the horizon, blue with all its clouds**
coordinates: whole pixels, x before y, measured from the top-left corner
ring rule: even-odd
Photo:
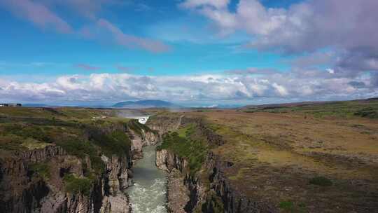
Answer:
[[[378,96],[376,0],[0,0],[0,102]]]

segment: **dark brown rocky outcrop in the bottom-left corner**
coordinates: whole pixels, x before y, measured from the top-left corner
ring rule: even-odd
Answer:
[[[29,165],[45,161],[65,152],[58,146],[26,153],[15,152],[0,159],[0,209],[3,212],[31,212],[50,193],[45,181],[31,176]]]

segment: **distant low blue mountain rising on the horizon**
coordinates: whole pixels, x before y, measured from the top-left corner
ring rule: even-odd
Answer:
[[[171,102],[165,102],[162,100],[141,100],[141,101],[128,101],[118,102],[112,107],[115,108],[127,108],[127,109],[146,109],[146,108],[181,108],[181,106],[173,104]]]

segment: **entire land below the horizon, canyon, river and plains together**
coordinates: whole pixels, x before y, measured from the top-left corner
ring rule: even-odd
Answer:
[[[378,212],[374,118],[119,110],[1,109],[1,212]]]

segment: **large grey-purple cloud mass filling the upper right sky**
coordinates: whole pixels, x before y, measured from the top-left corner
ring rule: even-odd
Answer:
[[[244,31],[246,47],[285,54],[311,53],[293,61],[295,67],[335,66],[335,72],[377,71],[378,1],[310,0],[289,8],[267,8],[258,0],[188,0],[181,7],[197,11],[214,22],[220,34]],[[226,5],[225,5],[226,4]],[[319,52],[330,49],[328,53]]]

